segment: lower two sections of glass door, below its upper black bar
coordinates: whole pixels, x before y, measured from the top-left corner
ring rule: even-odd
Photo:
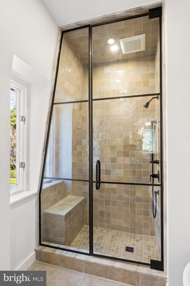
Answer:
[[[145,125],[146,111],[140,119],[139,113],[134,112],[136,107],[140,109],[137,106],[140,103],[143,112],[143,104],[149,99],[93,102],[93,253],[96,255],[143,263],[160,260],[155,238],[156,229],[160,233],[160,208],[155,222],[149,186],[152,129]]]

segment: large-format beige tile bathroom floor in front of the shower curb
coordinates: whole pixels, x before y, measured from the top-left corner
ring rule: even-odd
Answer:
[[[35,261],[30,271],[46,271],[46,286],[129,286],[78,271]]]

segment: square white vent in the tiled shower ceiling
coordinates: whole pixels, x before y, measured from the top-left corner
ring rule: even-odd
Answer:
[[[137,35],[120,39],[121,50],[123,54],[129,54],[130,52],[139,52],[145,50],[145,35]]]

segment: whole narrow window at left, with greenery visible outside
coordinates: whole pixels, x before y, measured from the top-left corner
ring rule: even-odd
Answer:
[[[26,190],[26,87],[10,86],[10,192]]]

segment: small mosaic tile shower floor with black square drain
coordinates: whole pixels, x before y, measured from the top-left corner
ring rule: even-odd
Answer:
[[[139,262],[150,263],[150,259],[160,260],[155,236],[131,234],[94,227],[94,253],[114,256]],[[126,252],[126,246],[134,247],[134,252]],[[70,247],[89,249],[89,230],[85,225]]]

